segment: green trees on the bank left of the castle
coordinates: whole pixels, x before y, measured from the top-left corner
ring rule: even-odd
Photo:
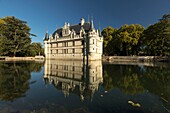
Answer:
[[[0,56],[35,56],[43,54],[41,43],[31,43],[31,28],[15,17],[0,18]]]

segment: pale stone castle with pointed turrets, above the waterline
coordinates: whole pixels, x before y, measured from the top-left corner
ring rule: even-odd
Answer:
[[[95,30],[93,21],[70,26],[65,23],[52,35],[46,33],[44,53],[46,59],[100,60],[102,58],[103,37]]]

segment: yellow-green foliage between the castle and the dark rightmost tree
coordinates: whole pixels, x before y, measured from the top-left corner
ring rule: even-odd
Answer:
[[[139,24],[124,25],[118,30],[111,27],[105,28],[102,31],[104,37],[104,54],[136,54],[143,30],[144,27]]]

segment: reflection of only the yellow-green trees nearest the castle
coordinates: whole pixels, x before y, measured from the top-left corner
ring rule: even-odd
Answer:
[[[139,81],[140,71],[138,66],[104,65],[103,67],[103,85],[107,90],[119,88],[127,94],[138,94],[144,91]]]

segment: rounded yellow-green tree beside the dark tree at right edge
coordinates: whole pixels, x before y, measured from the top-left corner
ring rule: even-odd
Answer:
[[[119,48],[122,55],[135,55],[138,52],[139,40],[144,27],[139,24],[124,25],[115,35],[114,39],[119,41]]]

